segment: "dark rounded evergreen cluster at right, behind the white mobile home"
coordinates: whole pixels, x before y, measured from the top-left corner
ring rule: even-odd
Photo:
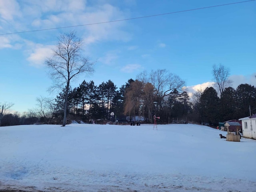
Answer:
[[[197,122],[216,125],[232,119],[250,116],[249,106],[256,108],[256,88],[240,84],[236,89],[224,88],[221,97],[213,87],[194,95],[193,113]]]

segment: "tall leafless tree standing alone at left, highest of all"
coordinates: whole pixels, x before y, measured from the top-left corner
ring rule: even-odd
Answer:
[[[76,36],[76,32],[60,34],[56,49],[51,58],[45,61],[49,75],[54,80],[52,88],[60,88],[64,91],[64,117],[62,126],[66,125],[68,91],[70,83],[80,74],[90,75],[94,72],[94,62],[82,56],[82,39]]]

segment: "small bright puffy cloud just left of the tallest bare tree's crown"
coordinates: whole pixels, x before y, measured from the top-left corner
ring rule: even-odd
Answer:
[[[54,46],[52,45],[43,46],[42,44],[36,44],[35,48],[31,48],[33,52],[30,53],[27,60],[31,66],[41,67],[44,65],[44,60],[51,56],[53,48]]]

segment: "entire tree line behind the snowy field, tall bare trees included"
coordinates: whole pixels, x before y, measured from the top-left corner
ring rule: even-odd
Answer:
[[[170,123],[175,119],[216,126],[218,122],[249,116],[249,106],[256,108],[256,88],[240,84],[236,89],[230,85],[230,70],[224,65],[212,68],[214,87],[207,87],[193,94],[183,90],[185,82],[166,69],[144,71],[135,80],[129,79],[119,90],[111,80],[95,85],[83,81],[72,88],[72,81],[80,74],[91,75],[94,63],[83,56],[82,39],[71,31],[60,34],[52,56],[46,58],[45,66],[52,78],[50,90],[59,90],[54,99],[38,97],[36,108],[24,114],[4,114],[0,125],[33,123],[62,124],[70,120],[111,121],[143,120]],[[4,105],[3,105],[4,106]],[[5,105],[5,109],[6,109]],[[10,106],[10,105],[9,105]],[[137,119],[136,119],[137,118]]]

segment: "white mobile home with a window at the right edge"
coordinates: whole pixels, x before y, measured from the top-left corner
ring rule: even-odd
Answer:
[[[242,121],[243,136],[256,139],[256,114],[239,120]]]

